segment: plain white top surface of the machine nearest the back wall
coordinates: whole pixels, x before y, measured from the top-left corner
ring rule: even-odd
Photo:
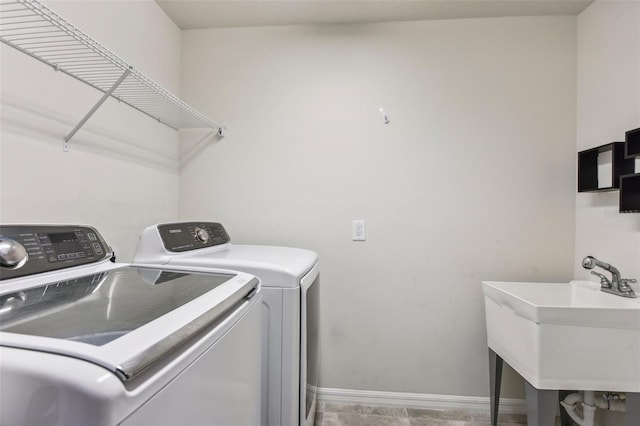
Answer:
[[[229,268],[260,278],[263,287],[295,288],[318,262],[310,250],[258,245],[227,244],[176,254],[169,265],[198,268]]]

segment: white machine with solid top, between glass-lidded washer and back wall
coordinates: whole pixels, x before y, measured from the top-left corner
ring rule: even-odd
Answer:
[[[318,385],[318,255],[273,246],[230,244],[219,223],[146,228],[134,264],[229,268],[257,276],[263,302],[263,416],[268,426],[313,425]]]

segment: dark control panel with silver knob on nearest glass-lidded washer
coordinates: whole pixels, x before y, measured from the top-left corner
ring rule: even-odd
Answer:
[[[111,255],[90,226],[0,225],[2,280],[99,262]]]

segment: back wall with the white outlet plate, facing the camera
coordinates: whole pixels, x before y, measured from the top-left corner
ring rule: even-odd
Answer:
[[[573,274],[575,17],[194,30],[182,49],[183,96],[229,130],[181,135],[180,216],[319,252],[321,386],[486,396],[480,282]]]

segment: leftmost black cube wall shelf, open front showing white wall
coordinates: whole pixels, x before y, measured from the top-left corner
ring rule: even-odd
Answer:
[[[611,151],[611,184],[601,187],[598,183],[598,156]],[[620,188],[620,176],[635,172],[635,160],[625,158],[625,142],[612,142],[578,153],[578,192],[615,191]]]

